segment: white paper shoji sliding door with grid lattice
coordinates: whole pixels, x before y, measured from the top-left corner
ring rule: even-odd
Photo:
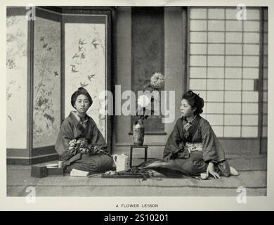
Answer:
[[[236,8],[189,9],[188,85],[204,98],[202,116],[230,153],[266,148],[266,13],[247,8],[247,20],[237,20]]]

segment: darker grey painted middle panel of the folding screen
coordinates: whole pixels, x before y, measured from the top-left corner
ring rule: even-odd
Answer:
[[[34,21],[33,148],[54,146],[60,129],[60,37],[60,22],[37,16]]]

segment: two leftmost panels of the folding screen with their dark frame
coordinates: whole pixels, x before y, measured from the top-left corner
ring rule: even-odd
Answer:
[[[7,8],[7,162],[58,158],[61,17],[36,8]]]

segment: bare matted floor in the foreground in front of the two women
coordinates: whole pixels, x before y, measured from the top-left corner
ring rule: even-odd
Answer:
[[[7,196],[25,196],[28,186],[37,196],[237,196],[237,188],[247,188],[249,196],[265,196],[267,181],[266,155],[228,155],[230,165],[239,176],[221,179],[173,179],[161,176],[152,179],[102,179],[89,177],[30,176],[30,166],[7,165]],[[140,160],[133,161],[138,164]]]

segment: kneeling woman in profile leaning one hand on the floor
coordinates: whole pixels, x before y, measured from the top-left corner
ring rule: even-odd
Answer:
[[[164,148],[164,160],[190,176],[203,172],[207,175],[237,175],[225,159],[225,153],[209,122],[200,116],[204,100],[193,91],[183,95],[182,117],[177,120],[174,131]]]

